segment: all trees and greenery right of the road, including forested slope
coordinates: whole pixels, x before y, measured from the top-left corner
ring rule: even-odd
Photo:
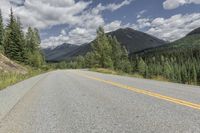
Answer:
[[[121,47],[115,37],[107,36],[100,27],[91,52],[71,61],[52,64],[52,67],[89,68],[103,73],[200,85],[200,49],[196,39],[189,37],[175,43],[152,52],[128,55],[126,48]],[[191,44],[190,48],[182,47],[188,44]]]

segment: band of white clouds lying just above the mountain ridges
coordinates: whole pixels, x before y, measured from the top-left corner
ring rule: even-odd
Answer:
[[[139,18],[135,24],[122,24],[121,21],[116,20],[110,23],[103,23],[106,32],[114,31],[119,28],[131,27],[135,30],[142,30],[148,34],[156,36],[166,41],[174,41],[181,37],[184,37],[190,31],[200,27],[200,13],[192,14],[176,14],[169,18]],[[69,42],[72,44],[83,44],[92,41],[96,36],[96,25],[95,28],[91,27],[77,27],[69,31],[65,36],[61,34],[58,37],[54,37],[50,40],[46,40],[49,45],[59,45],[63,42]],[[62,39],[64,38],[64,39]],[[59,43],[54,43],[59,42]],[[61,43],[62,42],[62,43]],[[51,44],[53,43],[53,44]],[[48,45],[48,46],[49,46]]]

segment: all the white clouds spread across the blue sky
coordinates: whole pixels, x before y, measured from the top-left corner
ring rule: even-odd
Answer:
[[[10,1],[22,4],[23,0],[0,0],[5,20],[8,19],[11,7]],[[164,40],[176,40],[186,35],[191,30],[200,27],[200,13],[177,14],[169,18],[144,18],[142,15],[146,10],[138,13],[135,24],[122,24],[115,20],[106,23],[102,17],[105,10],[115,11],[123,6],[129,5],[133,0],[123,0],[121,3],[108,5],[99,4],[89,8],[91,1],[84,2],[75,0],[26,0],[23,6],[13,6],[15,14],[20,17],[25,27],[33,26],[46,29],[51,26],[66,24],[71,30],[61,30],[60,35],[49,37],[42,41],[43,47],[57,46],[62,43],[83,44],[92,41],[96,36],[98,26],[104,26],[106,32],[118,28],[131,27],[143,30],[149,34]],[[200,0],[165,0],[165,9],[175,9],[185,4],[200,4]]]

